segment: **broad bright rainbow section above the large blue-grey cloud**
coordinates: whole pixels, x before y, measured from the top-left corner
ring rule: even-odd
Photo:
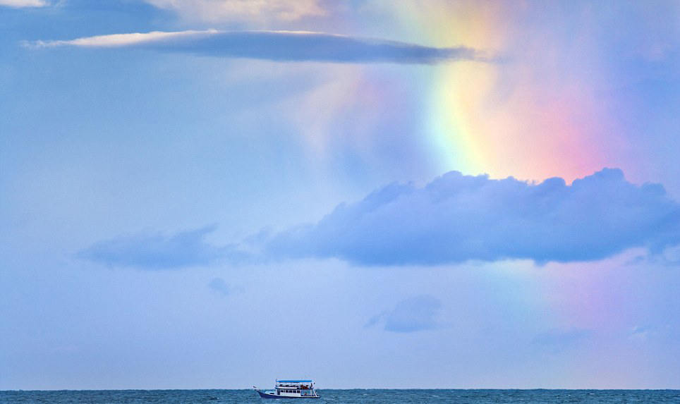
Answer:
[[[404,19],[418,16],[410,38],[420,43],[511,55],[499,63],[463,61],[432,68],[423,89],[420,131],[436,170],[571,181],[616,164],[609,163],[601,146],[611,120],[589,87],[602,72],[542,81],[546,71],[554,78],[566,68],[557,51],[554,57],[537,54],[549,39],[527,40],[505,23],[506,8],[516,4],[400,4]]]

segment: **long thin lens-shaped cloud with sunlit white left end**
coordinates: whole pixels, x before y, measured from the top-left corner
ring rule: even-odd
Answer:
[[[487,61],[475,49],[418,44],[306,31],[179,31],[99,35],[24,42],[25,47],[138,48],[226,58],[336,63],[441,63]]]

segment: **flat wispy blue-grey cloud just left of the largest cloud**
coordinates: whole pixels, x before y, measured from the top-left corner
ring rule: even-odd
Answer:
[[[78,257],[109,267],[150,270],[208,265],[229,256],[229,247],[205,242],[205,236],[214,229],[207,226],[169,236],[138,234],[99,241],[78,252]]]

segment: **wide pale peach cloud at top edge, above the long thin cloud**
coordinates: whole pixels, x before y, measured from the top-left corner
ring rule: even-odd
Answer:
[[[145,0],[157,8],[175,11],[188,20],[220,22],[294,21],[322,16],[317,0]]]

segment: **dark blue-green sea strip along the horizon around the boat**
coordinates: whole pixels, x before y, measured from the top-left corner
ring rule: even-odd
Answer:
[[[317,390],[315,404],[674,403],[680,390]],[[303,403],[308,403],[305,399]],[[1,404],[286,404],[253,390],[0,391]]]

